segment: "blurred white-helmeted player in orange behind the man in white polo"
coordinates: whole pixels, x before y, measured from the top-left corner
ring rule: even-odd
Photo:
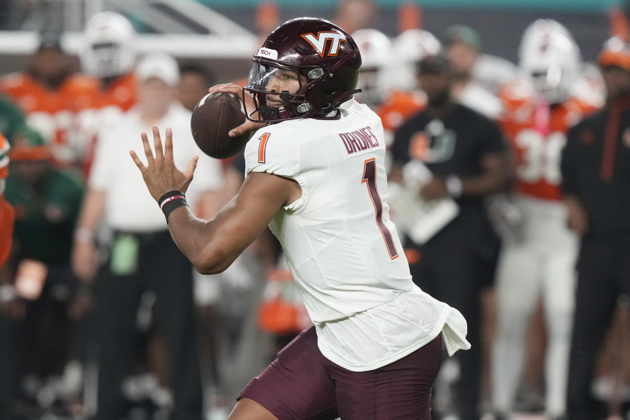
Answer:
[[[135,104],[135,36],[134,27],[118,13],[96,13],[86,23],[80,59],[84,73],[91,78],[91,89],[89,104],[83,107],[77,122],[85,176],[100,128],[121,118]]]

